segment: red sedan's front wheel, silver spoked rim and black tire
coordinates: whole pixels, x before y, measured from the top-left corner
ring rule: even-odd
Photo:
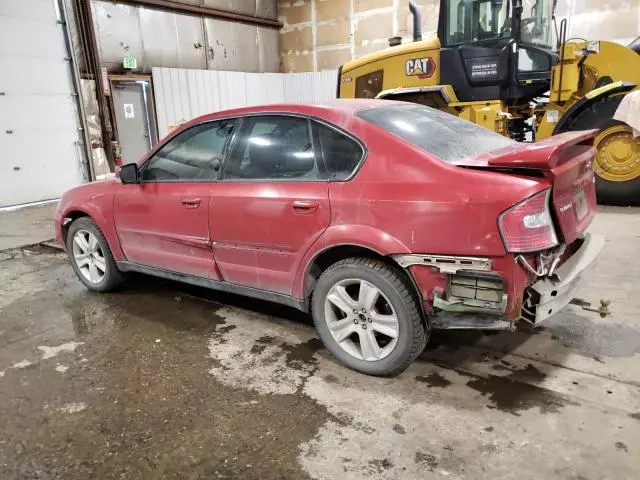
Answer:
[[[74,240],[77,235],[85,238],[89,246],[88,250],[86,246],[83,247],[79,242]],[[91,248],[93,243],[91,241],[91,235],[95,238],[94,248]],[[66,243],[71,266],[80,281],[89,290],[95,292],[111,292],[122,284],[124,277],[118,270],[107,240],[93,220],[87,217],[75,220],[67,231]],[[74,243],[76,243],[75,246]],[[89,254],[82,255],[83,251],[89,252]],[[93,264],[93,266],[85,263],[83,260],[79,260],[80,257],[78,255],[84,257],[84,259]],[[102,269],[104,269],[104,271],[102,271]],[[93,276],[92,274],[96,271],[102,275],[98,275],[98,277]]]

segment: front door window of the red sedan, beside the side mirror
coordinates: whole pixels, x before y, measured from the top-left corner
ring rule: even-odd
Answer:
[[[207,122],[185,130],[151,157],[141,172],[147,182],[215,180],[235,121]]]

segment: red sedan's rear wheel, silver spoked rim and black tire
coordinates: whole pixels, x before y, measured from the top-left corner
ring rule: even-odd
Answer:
[[[363,297],[371,293],[372,300],[360,298],[361,292]],[[372,302],[363,313],[362,307]],[[427,344],[429,331],[418,302],[413,285],[398,269],[378,260],[348,258],[320,275],[311,311],[320,339],[340,363],[367,375],[391,377],[403,372]],[[394,317],[397,327],[392,326]]]

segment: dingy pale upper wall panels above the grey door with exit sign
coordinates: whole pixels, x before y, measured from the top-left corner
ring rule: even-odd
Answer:
[[[276,18],[276,0],[181,3]],[[100,60],[109,71],[120,70],[125,56],[137,59],[138,72],[153,67],[280,71],[274,28],[101,0],[93,1],[93,15]]]

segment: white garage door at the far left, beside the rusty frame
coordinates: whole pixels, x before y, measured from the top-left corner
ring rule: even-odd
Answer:
[[[83,181],[76,97],[56,0],[0,0],[0,207]]]

